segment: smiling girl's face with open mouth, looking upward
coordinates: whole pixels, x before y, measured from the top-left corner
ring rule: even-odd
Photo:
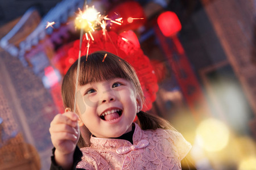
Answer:
[[[114,78],[80,86],[77,91],[79,125],[98,138],[115,138],[131,131],[141,97],[126,79]]]

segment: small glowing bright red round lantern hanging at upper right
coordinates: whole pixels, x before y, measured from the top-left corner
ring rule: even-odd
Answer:
[[[179,18],[171,11],[163,12],[158,16],[158,26],[166,37],[174,36],[181,30]]]

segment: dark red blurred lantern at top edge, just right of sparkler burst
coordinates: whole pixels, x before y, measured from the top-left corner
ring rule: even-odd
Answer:
[[[122,25],[111,23],[111,30],[118,33],[137,29],[146,21],[143,8],[136,1],[127,1],[115,6],[108,12],[108,18],[112,20],[122,18]]]

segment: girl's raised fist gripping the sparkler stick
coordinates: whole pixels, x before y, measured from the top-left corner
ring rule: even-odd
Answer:
[[[49,128],[53,146],[57,155],[73,155],[80,137],[78,117],[73,112],[57,114]]]

